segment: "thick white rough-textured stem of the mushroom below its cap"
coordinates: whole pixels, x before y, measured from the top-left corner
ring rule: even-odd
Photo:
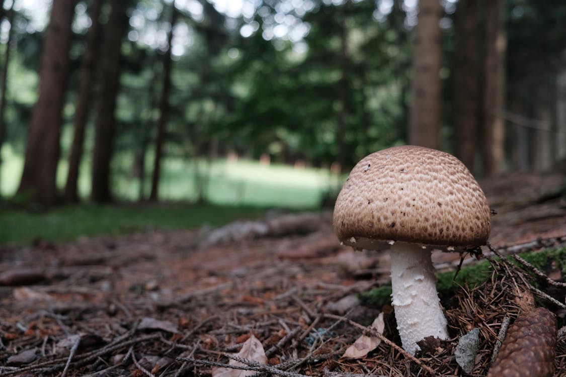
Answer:
[[[448,339],[434,272],[430,250],[407,242],[391,246],[392,304],[403,348],[411,354],[427,336]]]

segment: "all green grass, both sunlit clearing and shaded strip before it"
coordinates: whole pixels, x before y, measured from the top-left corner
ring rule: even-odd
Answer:
[[[10,144],[2,148],[2,157],[0,192],[8,203],[17,205],[22,198],[14,197],[14,193],[22,175],[23,158]],[[147,160],[149,169],[152,156],[148,155]],[[207,183],[204,192],[208,205],[191,205],[197,199],[196,164]],[[88,201],[90,165],[85,158],[80,171],[79,192],[84,201]],[[264,166],[243,159],[195,162],[169,158],[162,166],[160,181],[160,199],[164,204],[135,205],[132,203],[138,200],[140,181],[131,175],[131,166],[131,155],[118,153],[114,158],[112,192],[122,204],[69,205],[45,213],[0,205],[0,245],[29,244],[37,238],[66,241],[80,236],[121,235],[153,228],[221,226],[239,218],[254,218],[274,207],[316,209],[325,192],[341,184],[340,177],[321,169]],[[62,159],[57,174],[61,190],[66,175],[67,161]],[[149,194],[151,171],[146,177],[145,197]]]

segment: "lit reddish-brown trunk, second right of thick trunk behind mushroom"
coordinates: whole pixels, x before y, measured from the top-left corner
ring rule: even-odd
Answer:
[[[501,174],[504,156],[505,1],[486,1],[486,55],[484,81],[483,171]]]

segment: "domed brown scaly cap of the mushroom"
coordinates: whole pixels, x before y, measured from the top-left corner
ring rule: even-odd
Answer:
[[[490,235],[491,213],[460,160],[404,145],[372,153],[354,166],[336,199],[333,224],[338,239],[366,249],[367,242],[381,241],[479,246]]]

